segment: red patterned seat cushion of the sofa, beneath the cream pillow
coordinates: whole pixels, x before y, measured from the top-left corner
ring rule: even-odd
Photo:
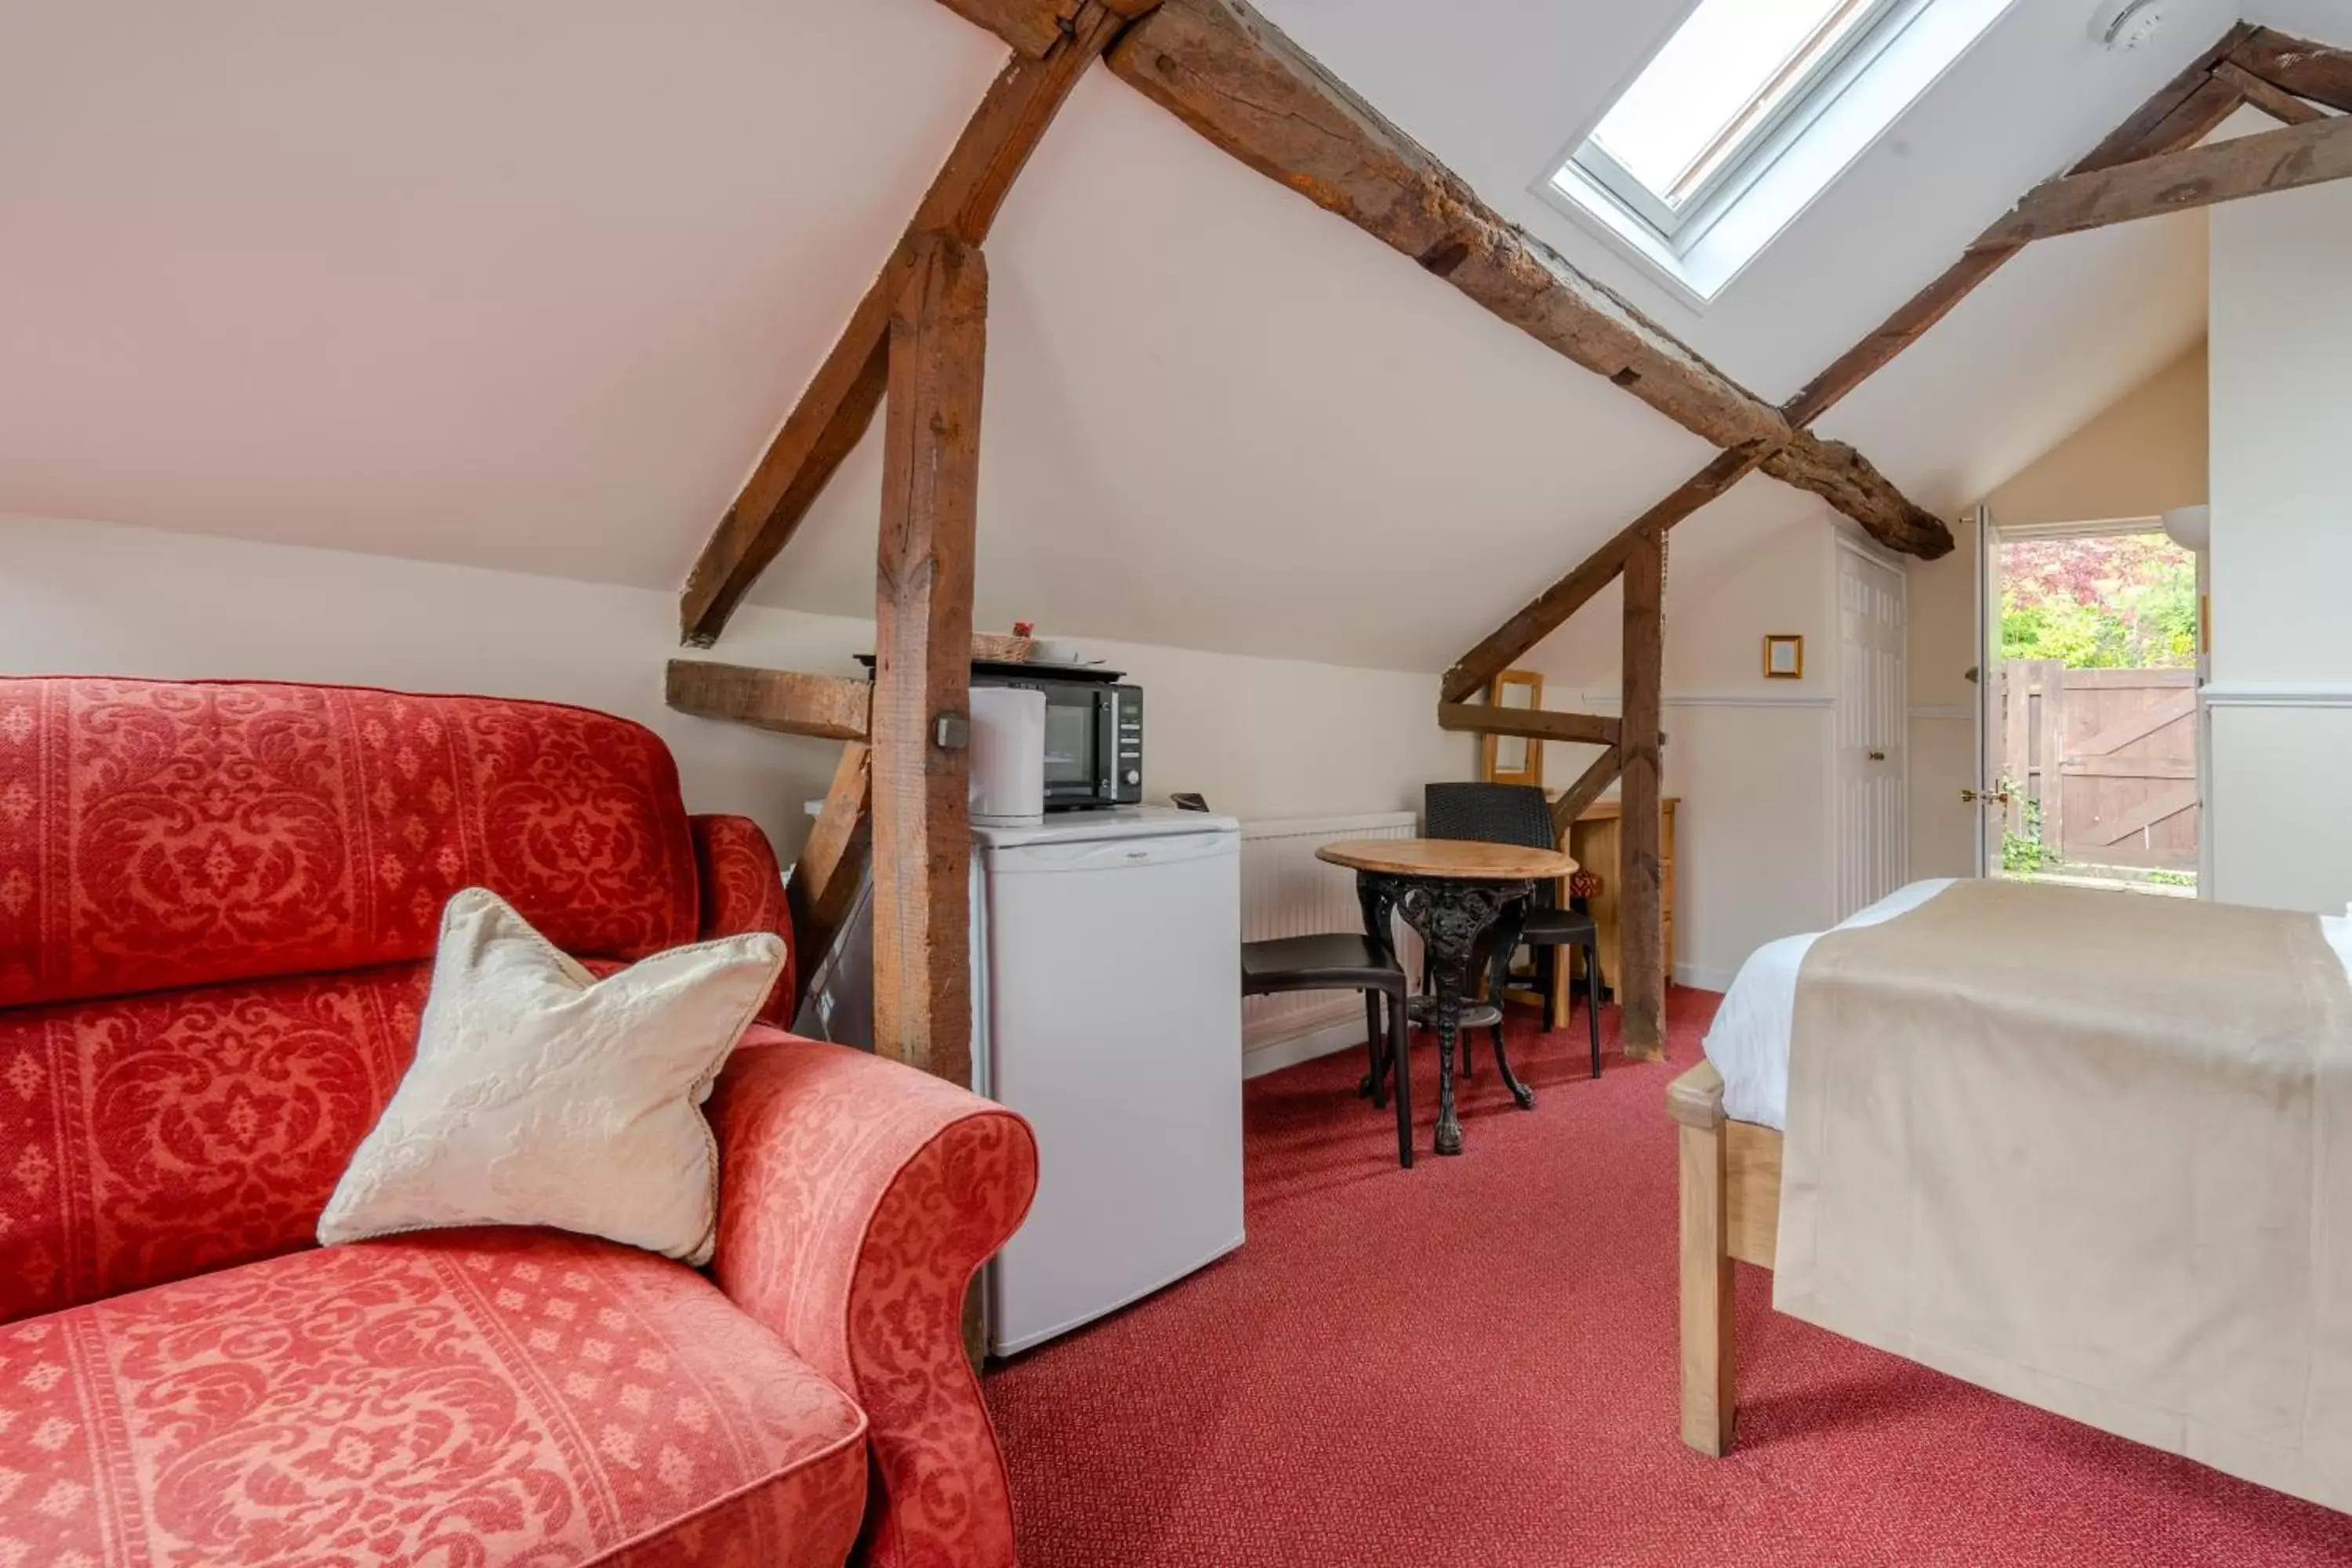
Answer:
[[[663,1258],[435,1232],[0,1328],[0,1561],[837,1566],[866,1418]],[[75,1556],[80,1554],[80,1556]]]

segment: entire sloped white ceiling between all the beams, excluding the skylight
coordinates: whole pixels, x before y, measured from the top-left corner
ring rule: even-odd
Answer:
[[[2112,56],[2018,0],[1693,315],[1526,190],[1679,0],[1263,5],[1771,397],[2230,21]],[[0,510],[675,588],[1000,61],[936,0],[0,7]],[[988,259],[983,623],[1439,668],[1708,456],[1101,71]],[[2037,247],[1825,430],[1957,508],[2192,341],[2201,266],[2194,216]],[[870,609],[877,456],[762,602]]]

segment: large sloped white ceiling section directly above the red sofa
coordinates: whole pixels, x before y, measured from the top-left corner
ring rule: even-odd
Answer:
[[[931,0],[9,0],[0,508],[675,585],[1002,56]]]

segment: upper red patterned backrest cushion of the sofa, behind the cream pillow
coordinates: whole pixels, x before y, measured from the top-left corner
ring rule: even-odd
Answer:
[[[0,679],[0,1006],[423,959],[461,886],[579,957],[691,943],[668,748],[548,703]]]

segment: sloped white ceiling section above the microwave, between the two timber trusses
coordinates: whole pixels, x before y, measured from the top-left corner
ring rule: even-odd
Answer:
[[[1108,73],[988,266],[981,625],[1432,670],[1712,456]],[[877,494],[755,599],[870,602]]]

